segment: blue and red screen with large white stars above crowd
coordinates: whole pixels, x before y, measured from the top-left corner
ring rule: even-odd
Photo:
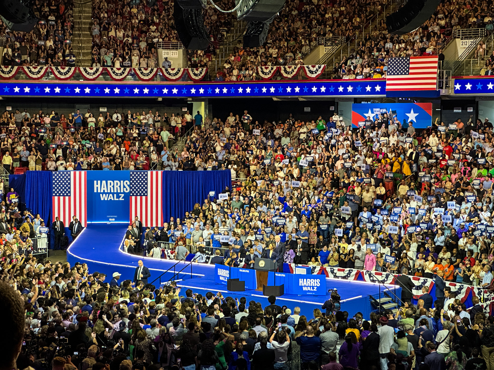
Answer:
[[[403,120],[412,121],[415,128],[426,128],[432,124],[432,103],[372,103],[352,104],[353,126],[358,127],[359,122],[365,121],[368,116],[376,119],[384,109],[388,115],[398,116],[402,124]]]

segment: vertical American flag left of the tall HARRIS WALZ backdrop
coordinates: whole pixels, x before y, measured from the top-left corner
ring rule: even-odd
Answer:
[[[86,172],[57,171],[52,174],[53,221],[59,217],[69,226],[72,216],[87,226]]]

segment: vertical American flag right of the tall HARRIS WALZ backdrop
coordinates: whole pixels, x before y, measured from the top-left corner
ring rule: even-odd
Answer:
[[[130,171],[130,222],[137,216],[142,226],[163,226],[163,174]]]

